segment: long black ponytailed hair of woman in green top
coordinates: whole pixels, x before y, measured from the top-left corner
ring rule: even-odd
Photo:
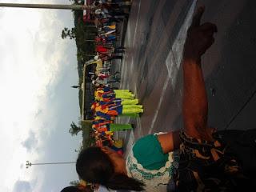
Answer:
[[[110,157],[96,146],[80,152],[76,170],[86,182],[98,183],[111,190],[143,190],[142,182],[129,178],[126,174],[115,173]]]

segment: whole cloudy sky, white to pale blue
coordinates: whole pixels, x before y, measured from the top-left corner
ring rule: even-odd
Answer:
[[[70,4],[69,0],[0,2]],[[75,164],[31,166],[26,161],[75,162],[82,136],[68,133],[80,118],[76,46],[62,39],[71,10],[0,8],[0,191],[60,191],[78,180]]]

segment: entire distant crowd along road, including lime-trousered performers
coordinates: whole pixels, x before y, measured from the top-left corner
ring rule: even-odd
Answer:
[[[119,22],[128,18],[130,1],[95,1],[94,16],[97,18],[98,33],[94,39],[95,56],[85,63],[94,64],[90,71],[90,80],[94,87],[94,101],[90,107],[94,118],[92,130],[95,146],[108,146],[123,154],[122,140],[114,139],[114,132],[131,130],[131,124],[115,123],[116,117],[138,117],[143,107],[138,104],[138,98],[130,90],[114,89],[114,83],[120,82],[119,72],[111,74],[114,60],[122,60],[125,48],[117,46],[120,43],[118,31]]]

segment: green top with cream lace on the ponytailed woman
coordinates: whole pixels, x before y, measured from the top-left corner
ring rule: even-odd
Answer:
[[[146,191],[166,188],[177,168],[178,153],[164,154],[155,134],[138,139],[126,158],[128,176],[144,182]]]

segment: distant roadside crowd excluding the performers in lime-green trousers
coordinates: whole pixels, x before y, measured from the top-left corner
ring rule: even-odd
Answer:
[[[122,54],[126,50],[122,46],[117,46],[117,41],[120,40],[118,23],[129,16],[126,12],[130,5],[122,6],[123,3],[123,1],[94,2],[94,17],[97,19],[98,30],[94,39],[96,55],[85,64],[96,64],[96,70],[91,73],[91,80],[97,87],[110,86],[111,83],[120,81],[118,71],[110,74],[110,66],[114,60],[122,60]]]

